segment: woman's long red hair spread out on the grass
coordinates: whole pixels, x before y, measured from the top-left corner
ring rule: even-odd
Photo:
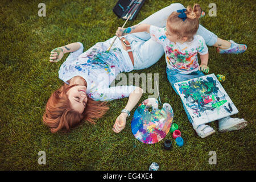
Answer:
[[[72,127],[77,126],[82,120],[95,124],[95,120],[101,118],[109,107],[107,102],[94,101],[88,97],[88,101],[83,113],[73,110],[71,102],[68,99],[67,92],[72,85],[63,84],[59,89],[55,90],[49,97],[46,104],[46,111],[43,115],[43,122],[51,128],[51,132],[55,133],[61,129],[70,131]]]

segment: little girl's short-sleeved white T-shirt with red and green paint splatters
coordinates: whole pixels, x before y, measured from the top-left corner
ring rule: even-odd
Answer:
[[[205,40],[200,35],[193,36],[191,42],[174,43],[166,37],[166,28],[150,26],[152,40],[162,44],[166,53],[167,68],[180,73],[188,74],[199,68],[197,53],[205,55],[208,53]]]

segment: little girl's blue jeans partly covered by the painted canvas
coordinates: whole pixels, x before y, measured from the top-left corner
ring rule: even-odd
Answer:
[[[192,79],[192,78],[197,78],[197,77],[200,77],[200,76],[204,76],[204,73],[200,72],[200,71],[192,72],[192,73],[189,73],[189,74],[183,74],[183,73],[179,73],[177,71],[173,71],[172,69],[168,69],[168,68],[166,68],[166,73],[167,73],[167,78],[168,78],[170,84],[172,85],[172,88],[174,89],[174,91],[176,93],[177,93],[177,90],[176,90],[176,88],[174,86],[174,84],[176,82],[185,81],[185,80],[189,80],[189,79]],[[192,123],[193,120],[190,117],[187,108],[185,107],[185,105],[184,105],[182,100],[181,100],[181,102],[182,102],[184,110],[185,110],[185,112],[186,112],[186,114],[188,116],[189,122]]]

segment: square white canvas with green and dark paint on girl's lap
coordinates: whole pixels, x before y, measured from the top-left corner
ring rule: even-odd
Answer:
[[[237,107],[214,74],[174,84],[196,125],[237,114]]]

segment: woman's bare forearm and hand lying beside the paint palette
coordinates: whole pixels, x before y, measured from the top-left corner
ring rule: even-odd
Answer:
[[[129,96],[125,109],[131,111],[135,107],[135,105],[137,105],[137,103],[139,102],[139,99],[141,98],[142,93],[143,93],[143,90],[139,87],[133,90],[133,92],[131,92]],[[113,131],[115,133],[119,133],[125,128],[127,116],[128,116],[127,113],[121,113],[117,117],[117,119],[115,120],[115,124],[113,126]]]

